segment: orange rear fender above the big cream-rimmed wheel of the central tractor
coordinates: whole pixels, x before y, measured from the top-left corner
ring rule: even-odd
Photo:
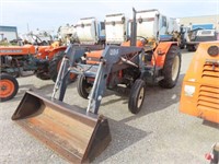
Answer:
[[[155,48],[155,50],[153,52],[154,57],[152,57],[152,59],[151,59],[151,65],[163,68],[164,62],[165,62],[165,57],[172,45],[177,46],[177,43],[175,43],[175,42],[159,43],[158,47]]]

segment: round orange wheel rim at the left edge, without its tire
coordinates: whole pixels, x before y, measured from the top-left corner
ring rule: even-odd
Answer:
[[[5,98],[12,95],[14,92],[14,84],[10,80],[0,81],[0,97]]]

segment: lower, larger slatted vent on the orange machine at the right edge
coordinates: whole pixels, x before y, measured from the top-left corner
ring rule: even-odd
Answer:
[[[219,87],[200,85],[197,108],[219,110]]]

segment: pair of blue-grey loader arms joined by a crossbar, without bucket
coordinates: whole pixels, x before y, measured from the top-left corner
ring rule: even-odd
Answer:
[[[124,56],[128,54],[141,54],[143,52],[143,49],[138,47],[107,46],[101,55],[99,66],[80,65],[77,68],[77,66],[73,66],[73,63],[77,59],[82,57],[84,52],[85,49],[81,47],[69,46],[67,48],[66,56],[62,59],[58,78],[54,86],[51,98],[55,98],[56,93],[59,91],[57,99],[64,101],[67,87],[67,77],[70,72],[76,74],[84,74],[84,77],[95,78],[93,87],[89,95],[89,105],[87,108],[87,113],[90,112],[93,114],[97,114],[102,97],[106,89],[106,81],[108,74],[112,72],[113,66],[118,62],[124,62],[125,65],[127,65],[127,67],[138,67],[135,62],[124,60]],[[142,67],[139,66],[139,68]],[[120,67],[120,69],[123,69],[123,67]]]

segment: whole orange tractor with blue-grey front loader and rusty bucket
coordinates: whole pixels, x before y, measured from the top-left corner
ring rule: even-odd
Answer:
[[[106,46],[104,50],[88,52],[83,47],[69,45],[51,98],[26,92],[12,119],[70,162],[92,161],[111,141],[107,119],[99,115],[106,89],[118,84],[130,87],[128,106],[137,114],[142,106],[146,83],[171,89],[177,82],[181,54],[176,43],[159,43],[149,60],[151,52],[145,51],[145,42],[136,42],[135,10],[131,26],[131,40],[122,46]],[[96,57],[95,61],[76,63],[77,58],[92,55]],[[67,77],[71,72],[80,74],[79,94],[89,98],[84,110],[62,102]]]

